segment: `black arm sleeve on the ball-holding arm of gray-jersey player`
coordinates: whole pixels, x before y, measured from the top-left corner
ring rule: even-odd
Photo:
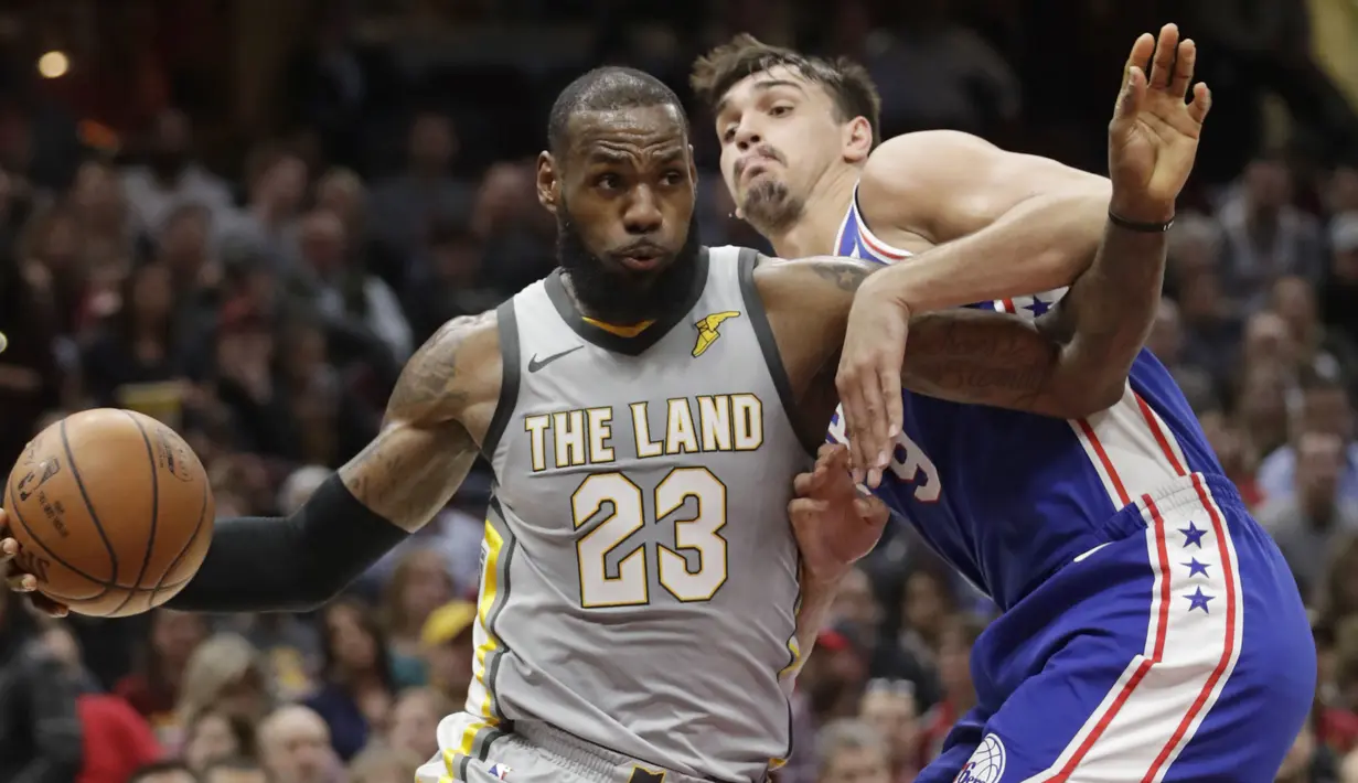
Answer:
[[[190,612],[306,612],[406,540],[405,529],[326,479],[289,517],[217,520],[197,575],[170,600]]]

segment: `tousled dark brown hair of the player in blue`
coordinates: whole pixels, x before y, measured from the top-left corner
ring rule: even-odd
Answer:
[[[872,125],[872,145],[881,144],[881,96],[877,95],[877,85],[872,83],[866,68],[847,57],[809,57],[741,33],[695,60],[689,84],[698,100],[713,110],[737,81],[778,66],[796,72],[828,92],[841,122],[856,117],[866,118]]]

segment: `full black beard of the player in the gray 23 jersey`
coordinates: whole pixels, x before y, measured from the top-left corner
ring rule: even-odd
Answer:
[[[660,318],[693,292],[702,250],[697,214],[689,220],[687,239],[674,259],[660,271],[644,274],[604,265],[585,247],[580,227],[569,213],[565,205],[557,210],[557,262],[570,278],[570,290],[581,312],[589,318],[631,326]]]

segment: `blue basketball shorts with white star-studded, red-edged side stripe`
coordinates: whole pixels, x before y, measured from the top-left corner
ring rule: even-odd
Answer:
[[[978,704],[919,783],[1272,783],[1316,692],[1278,547],[1202,474],[1099,533],[976,641]]]

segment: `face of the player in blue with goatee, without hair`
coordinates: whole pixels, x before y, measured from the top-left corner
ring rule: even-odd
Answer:
[[[737,81],[716,114],[722,179],[755,227],[796,220],[843,153],[845,125],[830,94],[786,66]]]

